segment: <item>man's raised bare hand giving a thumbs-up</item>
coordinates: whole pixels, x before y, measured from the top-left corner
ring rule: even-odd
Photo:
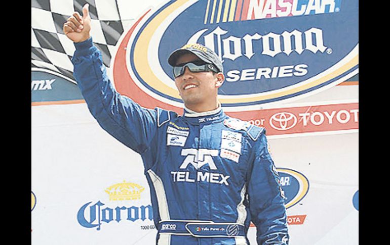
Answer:
[[[88,7],[89,4],[84,5],[83,17],[78,12],[74,12],[62,27],[65,35],[73,42],[82,42],[91,36],[91,17]]]

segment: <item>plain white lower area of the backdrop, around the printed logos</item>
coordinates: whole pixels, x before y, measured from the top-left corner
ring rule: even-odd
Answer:
[[[340,89],[345,86],[333,88],[333,94]],[[357,92],[356,85],[349,89]],[[101,222],[100,230],[77,221],[77,212],[89,202],[113,210],[150,205],[140,157],[105,133],[84,103],[35,106],[31,116],[32,244],[153,244],[155,230],[147,218],[129,221],[122,211],[119,222],[115,217]],[[277,167],[294,169],[309,180],[306,196],[287,210],[288,216],[306,215],[303,224],[289,225],[290,244],[358,244],[359,212],[353,206],[359,189],[358,136],[269,136]],[[145,188],[141,198],[110,201],[104,190],[124,180]],[[87,208],[87,220],[89,215]],[[249,230],[254,244],[255,229]]]

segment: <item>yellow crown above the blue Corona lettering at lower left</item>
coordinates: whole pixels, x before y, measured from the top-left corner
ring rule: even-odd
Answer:
[[[144,189],[139,184],[127,183],[124,180],[123,183],[111,185],[105,192],[109,194],[110,201],[137,200],[141,198]]]

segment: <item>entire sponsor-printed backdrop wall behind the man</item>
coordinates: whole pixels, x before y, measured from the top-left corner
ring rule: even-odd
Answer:
[[[111,80],[142,106],[181,114],[165,59],[188,41],[214,48],[226,114],[267,130],[290,244],[359,243],[358,3],[88,2]],[[31,2],[31,244],[154,244],[141,158],[100,128],[72,76],[61,29],[84,3]]]

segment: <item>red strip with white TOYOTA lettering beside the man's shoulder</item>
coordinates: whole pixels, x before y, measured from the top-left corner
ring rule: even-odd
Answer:
[[[359,129],[359,103],[227,112],[226,114],[264,127],[267,135]]]

